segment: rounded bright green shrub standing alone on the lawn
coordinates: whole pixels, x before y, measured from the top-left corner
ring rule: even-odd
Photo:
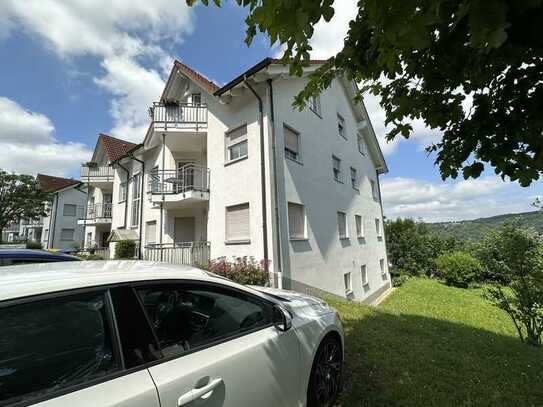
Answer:
[[[441,255],[436,259],[436,265],[439,276],[454,287],[467,288],[483,274],[481,263],[466,252]]]

